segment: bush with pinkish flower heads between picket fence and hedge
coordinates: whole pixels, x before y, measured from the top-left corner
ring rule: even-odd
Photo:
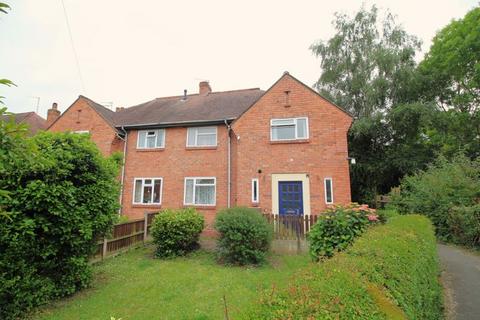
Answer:
[[[310,255],[318,259],[345,250],[370,223],[377,221],[375,210],[367,205],[332,206],[318,217],[308,233]]]

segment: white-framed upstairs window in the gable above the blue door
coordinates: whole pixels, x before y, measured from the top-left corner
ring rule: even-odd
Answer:
[[[308,118],[272,119],[272,141],[308,139]]]

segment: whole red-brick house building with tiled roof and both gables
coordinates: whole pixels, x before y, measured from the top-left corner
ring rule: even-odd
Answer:
[[[56,108],[55,108],[56,109]],[[51,131],[90,133],[124,153],[122,214],[195,206],[211,224],[225,207],[318,214],[350,198],[352,116],[285,73],[270,89],[157,98],[115,112],[80,96]]]

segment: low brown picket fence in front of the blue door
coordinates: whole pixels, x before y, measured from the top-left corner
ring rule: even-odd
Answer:
[[[317,215],[263,214],[273,225],[276,240],[305,240],[310,228],[317,222]]]

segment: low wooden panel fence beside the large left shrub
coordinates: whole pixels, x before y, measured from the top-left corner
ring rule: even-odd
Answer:
[[[143,219],[130,220],[116,224],[110,237],[98,242],[93,260],[104,259],[107,256],[121,252],[138,243],[148,240],[150,226],[157,213],[145,213]],[[146,228],[145,228],[146,226]]]

